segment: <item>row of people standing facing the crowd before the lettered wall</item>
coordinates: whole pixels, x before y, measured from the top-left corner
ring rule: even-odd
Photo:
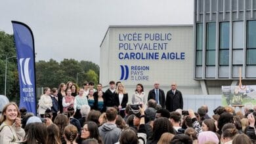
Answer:
[[[77,88],[76,84],[68,82],[61,83],[58,90],[45,88],[43,96],[39,99],[38,113],[43,117],[47,109],[52,109],[54,117],[57,113],[66,113],[68,107],[74,107],[75,118],[81,118],[79,113],[81,105],[89,105],[91,109],[105,112],[107,107],[115,107],[119,114],[124,117],[125,107],[128,103],[128,94],[121,82],[109,82],[110,87],[105,92],[102,91],[102,84],[97,84],[96,90],[93,82],[85,82],[83,88]],[[160,89],[159,82],[154,83],[154,89],[148,92],[148,97],[144,92],[142,84],[137,84],[132,96],[132,104],[145,104],[149,99],[154,99],[167,110],[175,111],[183,108],[182,94],[176,89],[176,84],[171,84],[171,90],[165,93]],[[53,118],[54,119],[54,118]]]

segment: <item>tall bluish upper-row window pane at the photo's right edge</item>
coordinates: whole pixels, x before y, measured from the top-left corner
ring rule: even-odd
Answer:
[[[247,22],[247,48],[256,48],[256,20]]]

